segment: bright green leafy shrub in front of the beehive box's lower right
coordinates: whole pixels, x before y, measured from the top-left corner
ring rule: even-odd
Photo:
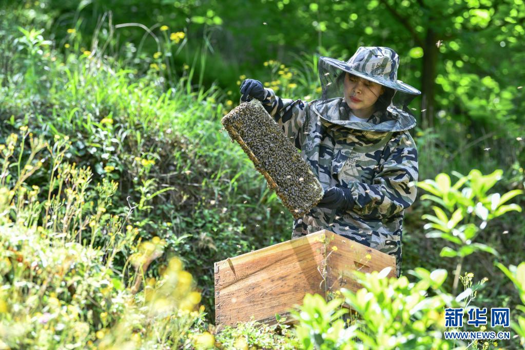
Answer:
[[[466,346],[461,341],[445,340],[445,307],[467,308],[484,281],[472,285],[472,274],[461,279],[465,291],[457,297],[444,291],[446,270],[432,272],[417,268],[411,271],[416,282],[408,278],[386,278],[381,272],[355,272],[363,288],[356,292],[341,289],[339,295],[325,302],[320,295],[306,295],[294,313],[299,324],[297,336],[306,349],[452,349]],[[350,307],[348,327],[338,319]],[[354,314],[355,313],[355,314]]]

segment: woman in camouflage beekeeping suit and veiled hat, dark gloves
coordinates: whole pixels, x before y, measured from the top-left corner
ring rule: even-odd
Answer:
[[[322,98],[311,102],[279,98],[253,79],[240,87],[240,100],[262,102],[325,190],[293,221],[292,239],[328,229],[395,256],[397,277],[404,209],[416,197],[418,174],[408,132],[416,122],[406,105],[421,93],[397,80],[398,64],[387,47],[360,47],[347,62],[321,57]]]

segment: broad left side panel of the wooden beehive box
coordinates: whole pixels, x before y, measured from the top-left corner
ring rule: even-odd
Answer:
[[[217,324],[233,325],[253,316],[264,320],[286,316],[304,294],[321,293],[323,260],[317,235],[278,243],[215,264]]]

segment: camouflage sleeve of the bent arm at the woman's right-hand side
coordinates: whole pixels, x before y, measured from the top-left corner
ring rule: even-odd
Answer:
[[[362,217],[383,219],[414,203],[417,191],[417,149],[408,131],[397,134],[385,147],[372,185],[350,183],[354,207]]]

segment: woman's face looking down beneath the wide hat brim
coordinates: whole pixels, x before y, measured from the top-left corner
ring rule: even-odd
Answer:
[[[372,115],[374,103],[383,92],[383,86],[373,81],[349,73],[344,77],[344,99],[359,118],[367,119]]]

